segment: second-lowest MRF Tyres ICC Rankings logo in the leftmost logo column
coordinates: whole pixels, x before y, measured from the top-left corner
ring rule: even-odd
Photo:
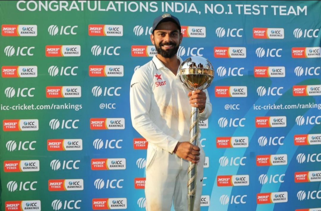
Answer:
[[[39,160],[4,161],[4,172],[39,171]]]

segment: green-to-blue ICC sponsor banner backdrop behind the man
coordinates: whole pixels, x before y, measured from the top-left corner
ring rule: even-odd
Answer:
[[[129,109],[178,17],[208,58],[201,210],[321,210],[320,1],[1,1],[1,210],[144,210],[146,141]]]

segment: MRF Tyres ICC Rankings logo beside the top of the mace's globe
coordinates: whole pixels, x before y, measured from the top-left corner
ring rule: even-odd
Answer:
[[[214,47],[215,58],[246,58],[245,47]]]

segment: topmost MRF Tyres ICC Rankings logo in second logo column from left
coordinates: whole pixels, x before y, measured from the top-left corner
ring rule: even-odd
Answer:
[[[80,56],[80,45],[46,45],[46,56]]]

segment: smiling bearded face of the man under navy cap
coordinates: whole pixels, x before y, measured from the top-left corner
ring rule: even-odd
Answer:
[[[182,38],[178,26],[171,21],[160,23],[151,34],[157,53],[164,58],[172,58],[177,53]]]

